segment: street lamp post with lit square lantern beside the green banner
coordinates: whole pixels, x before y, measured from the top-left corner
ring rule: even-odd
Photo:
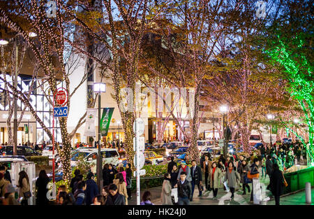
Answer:
[[[94,83],[94,92],[98,93],[98,156],[97,156],[97,170],[96,170],[96,174],[97,174],[97,186],[99,191],[101,191],[101,184],[103,181],[103,171],[102,171],[102,166],[103,166],[103,159],[102,159],[102,155],[101,155],[101,144],[100,144],[100,96],[102,92],[106,92],[106,84],[105,83]]]

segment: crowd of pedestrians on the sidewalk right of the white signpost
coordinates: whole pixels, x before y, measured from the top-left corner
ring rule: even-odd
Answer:
[[[299,142],[276,142],[272,146],[260,146],[258,150],[259,156],[256,153],[249,157],[243,154],[228,154],[227,157],[220,155],[216,162],[211,159],[211,154],[207,153],[201,157],[198,165],[193,160],[190,166],[185,160],[177,164],[174,157],[171,157],[161,191],[162,204],[190,204],[193,202],[195,188],[199,197],[204,194],[204,190],[212,191],[213,199],[216,199],[218,190],[230,192],[230,199],[234,199],[234,192],[238,188],[243,191],[242,195],[251,192],[250,200],[253,203],[253,178],[267,176],[267,190],[271,191],[276,205],[280,204],[280,196],[283,195],[286,183],[283,171],[292,167],[294,162],[300,164],[301,157],[306,162],[306,153]],[[174,188],[177,188],[177,202],[174,202],[172,195]]]

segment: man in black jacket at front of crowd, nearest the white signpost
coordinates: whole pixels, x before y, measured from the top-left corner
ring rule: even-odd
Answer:
[[[181,172],[180,180],[178,181],[178,204],[190,205],[190,198],[192,197],[192,185],[186,181],[186,172]]]

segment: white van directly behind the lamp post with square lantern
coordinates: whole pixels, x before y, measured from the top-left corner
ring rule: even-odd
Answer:
[[[101,155],[103,155],[103,164],[112,164],[117,165],[121,162],[120,155],[117,149],[114,148],[101,148]],[[96,172],[96,163],[98,148],[79,148],[74,150],[71,154],[71,167],[75,167],[77,164],[78,157],[84,157],[84,160],[94,164],[94,167],[91,168],[91,171]]]

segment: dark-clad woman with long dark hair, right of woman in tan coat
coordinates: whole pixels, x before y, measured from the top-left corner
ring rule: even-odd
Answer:
[[[45,169],[42,169],[39,172],[38,179],[36,181],[36,189],[37,189],[37,195],[36,195],[36,205],[47,205],[48,199],[47,199],[47,184],[49,183],[50,178],[47,176]]]

